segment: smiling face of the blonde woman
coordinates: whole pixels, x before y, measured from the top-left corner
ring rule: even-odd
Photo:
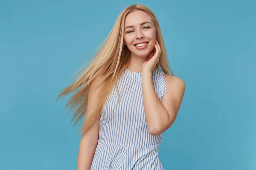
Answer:
[[[135,46],[138,43],[139,47]],[[151,17],[139,10],[128,14],[125,18],[124,44],[131,51],[131,55],[147,57],[155,43],[156,30]]]

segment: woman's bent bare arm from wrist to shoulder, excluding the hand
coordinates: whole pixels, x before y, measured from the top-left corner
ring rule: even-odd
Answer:
[[[143,106],[149,132],[151,135],[159,135],[174,123],[183,99],[185,83],[178,77],[166,74],[167,92],[160,101],[151,76],[151,73],[143,74]]]

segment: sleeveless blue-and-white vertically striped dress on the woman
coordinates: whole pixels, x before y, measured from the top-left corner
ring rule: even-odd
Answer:
[[[152,82],[158,99],[166,93],[163,71],[152,71]],[[158,157],[162,135],[148,131],[143,108],[141,73],[125,68],[116,88],[102,108],[99,140],[91,170],[163,170]],[[116,108],[115,108],[116,106]]]

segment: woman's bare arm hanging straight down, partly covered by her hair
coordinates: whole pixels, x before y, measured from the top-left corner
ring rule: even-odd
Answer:
[[[90,89],[92,89],[92,87],[96,85],[96,83],[97,79],[92,83]],[[90,113],[96,108],[96,101],[100,88],[101,86],[93,91],[89,90],[85,119],[87,119],[87,117],[90,116]],[[95,150],[98,144],[98,139],[99,121],[97,121],[93,126],[90,127],[90,129],[82,134],[77,159],[77,170],[90,170]]]

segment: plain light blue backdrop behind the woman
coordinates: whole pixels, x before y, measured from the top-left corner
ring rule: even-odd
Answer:
[[[79,128],[68,96],[55,99],[136,3],[157,15],[186,83],[160,144],[164,169],[256,170],[255,0],[1,0],[1,170],[76,169]]]

